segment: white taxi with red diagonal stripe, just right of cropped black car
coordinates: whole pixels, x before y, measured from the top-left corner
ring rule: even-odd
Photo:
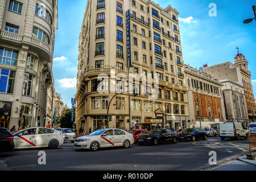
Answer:
[[[14,134],[14,148],[57,148],[64,143],[60,131],[47,127],[31,127],[16,131]]]

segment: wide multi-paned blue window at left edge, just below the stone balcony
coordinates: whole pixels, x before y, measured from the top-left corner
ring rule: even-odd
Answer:
[[[10,49],[0,48],[0,64],[16,66],[18,60],[18,52]]]

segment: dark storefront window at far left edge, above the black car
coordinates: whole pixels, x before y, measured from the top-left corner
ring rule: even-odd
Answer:
[[[13,102],[0,101],[0,127],[9,128]]]

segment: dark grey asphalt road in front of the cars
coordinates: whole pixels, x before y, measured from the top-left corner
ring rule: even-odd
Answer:
[[[39,151],[46,152],[46,165],[38,164]],[[209,152],[216,151],[217,163],[249,151],[246,139],[236,141],[219,137],[207,141],[177,142],[159,146],[131,145],[131,148],[102,148],[82,151],[72,143],[57,149],[40,148],[0,154],[0,170],[199,170],[209,164]]]

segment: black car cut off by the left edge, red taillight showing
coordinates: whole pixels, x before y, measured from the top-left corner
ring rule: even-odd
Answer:
[[[13,134],[9,130],[0,127],[0,152],[13,150]]]

